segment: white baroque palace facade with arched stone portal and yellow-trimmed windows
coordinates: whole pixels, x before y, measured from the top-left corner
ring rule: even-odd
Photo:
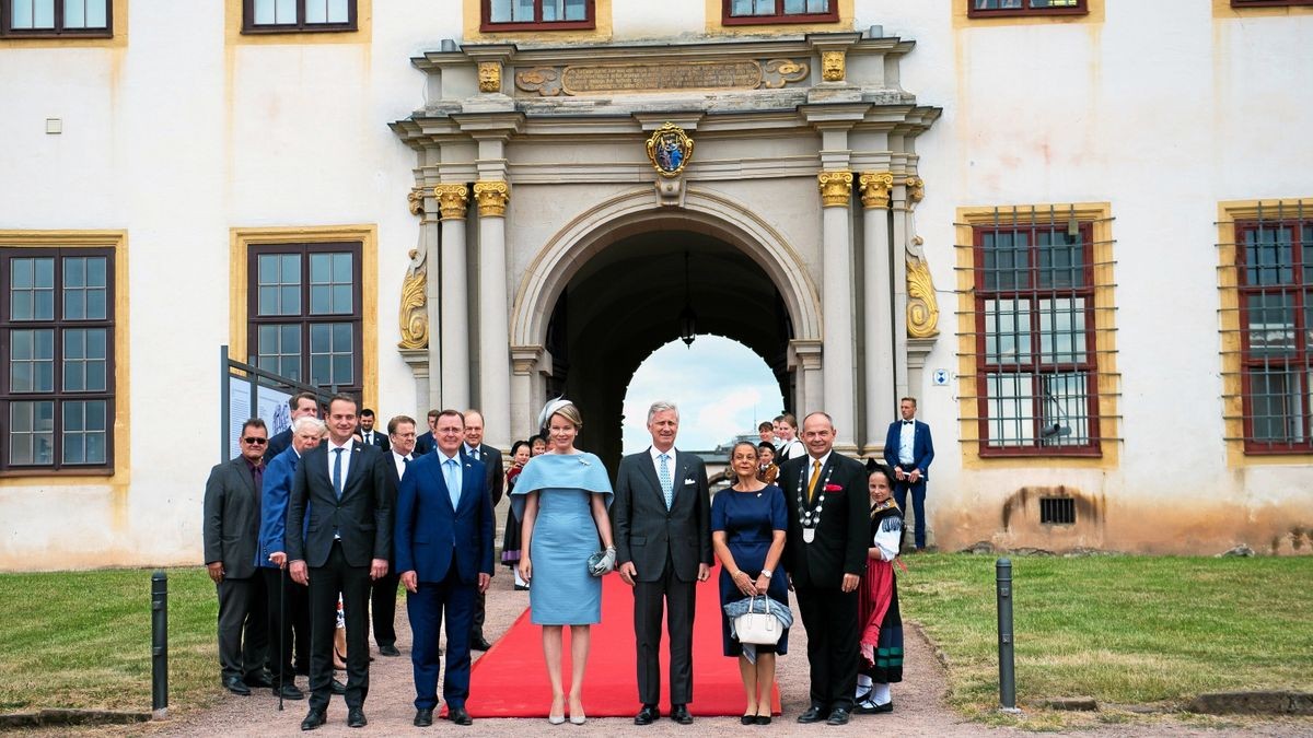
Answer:
[[[3,0],[0,569],[200,555],[215,349],[382,416],[696,319],[932,537],[1313,548],[1309,0]],[[421,420],[423,423],[423,420]]]

